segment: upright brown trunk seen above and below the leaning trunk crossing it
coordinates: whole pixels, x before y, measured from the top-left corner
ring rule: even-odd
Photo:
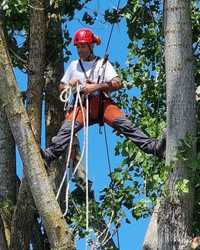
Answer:
[[[35,139],[40,144],[42,96],[46,63],[46,20],[43,1],[32,0],[30,6],[29,74],[26,104]],[[27,249],[32,237],[35,213],[35,204],[27,180],[24,177],[21,182],[17,206],[13,216],[11,249]]]

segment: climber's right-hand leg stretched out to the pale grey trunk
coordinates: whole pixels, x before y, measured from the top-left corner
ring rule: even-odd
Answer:
[[[149,138],[140,129],[135,128],[133,123],[125,117],[122,110],[111,100],[106,100],[104,104],[104,120],[117,132],[132,140],[142,151],[147,154],[157,155],[161,158],[165,153],[165,138],[162,140]]]

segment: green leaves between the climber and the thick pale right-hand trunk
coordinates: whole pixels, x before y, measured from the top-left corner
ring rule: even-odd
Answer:
[[[125,87],[116,100],[125,108],[135,126],[151,137],[162,135],[165,128],[165,74],[163,9],[160,1],[128,1],[121,13],[127,21],[130,43],[128,65],[121,69]],[[131,94],[130,94],[131,93]],[[120,97],[119,97],[120,96]],[[168,177],[164,162],[145,155],[127,139],[119,142],[116,154],[124,158],[121,168],[123,186],[129,182],[134,190],[128,209],[136,219],[148,216],[162,193]],[[127,178],[126,173],[130,177]],[[123,187],[120,187],[123,189]],[[126,204],[126,197],[122,204]]]

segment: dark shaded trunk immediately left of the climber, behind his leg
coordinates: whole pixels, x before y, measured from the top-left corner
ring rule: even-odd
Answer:
[[[48,145],[64,119],[63,104],[59,100],[58,92],[58,84],[64,73],[61,23],[50,19],[47,34],[48,40],[51,41],[47,46],[48,65],[45,83],[46,144]],[[57,161],[52,162],[48,171],[49,180],[55,192],[63,177],[64,158],[60,157]],[[64,193],[62,192],[59,199],[61,207],[64,207],[63,201]]]

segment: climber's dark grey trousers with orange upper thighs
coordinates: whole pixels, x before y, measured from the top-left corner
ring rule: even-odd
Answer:
[[[157,139],[151,139],[140,129],[135,128],[133,123],[125,117],[122,110],[110,98],[105,98],[103,102],[103,119],[105,123],[114,128],[118,133],[128,137],[145,153],[159,155]],[[98,111],[99,97],[91,97],[89,99],[89,125],[98,123]],[[48,162],[58,158],[67,148],[71,136],[73,112],[76,112],[74,133],[77,133],[83,127],[83,114],[78,106],[76,110],[73,109],[66,114],[65,121],[60,130],[52,138],[51,144],[45,149],[44,153]]]

